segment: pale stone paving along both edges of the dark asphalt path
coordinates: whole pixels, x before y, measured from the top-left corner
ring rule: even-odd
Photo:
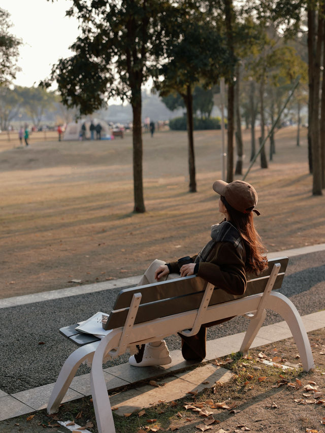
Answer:
[[[325,244],[272,253],[269,254],[269,257],[294,256],[323,250],[325,250]],[[73,289],[69,288],[41,294],[38,293],[37,298],[35,298],[35,295],[26,295],[1,299],[0,308],[28,304],[36,301],[39,302],[40,296],[42,298],[44,297],[45,300],[71,296],[72,291],[77,295],[113,287],[125,287],[126,285],[136,284],[138,280],[139,277],[125,278],[112,282],[80,286]],[[303,317],[303,322],[307,332],[322,328],[325,324],[325,311],[308,314]],[[291,337],[291,332],[286,322],[275,323],[262,327],[251,347],[263,346],[289,337]],[[206,386],[202,385],[202,382],[211,382],[211,384],[213,384],[216,380],[228,380],[230,377],[229,371],[216,368],[216,366],[212,365],[209,361],[238,351],[242,339],[243,333],[240,332],[239,334],[209,341],[207,344],[207,363],[205,365],[199,364],[196,369],[189,372],[186,371],[186,369],[189,367],[192,368],[193,363],[184,361],[180,350],[171,352],[173,361],[166,367],[141,369],[131,367],[129,364],[124,363],[105,369],[107,389],[109,392],[116,392],[119,388],[125,387],[125,385],[128,385],[130,388],[111,397],[111,405],[118,406],[118,410],[115,413],[122,415],[123,413],[133,412],[136,409],[148,406],[149,403],[158,402],[158,400],[172,401],[184,396],[189,390],[200,390],[201,387]],[[152,388],[152,386],[142,386],[141,384],[143,381],[162,377],[166,375],[166,373],[169,374],[169,377],[165,380],[167,384],[164,387]],[[51,383],[11,395],[0,390],[0,421],[46,408],[53,385],[54,383]],[[73,379],[63,402],[86,395],[90,395],[89,374]]]

